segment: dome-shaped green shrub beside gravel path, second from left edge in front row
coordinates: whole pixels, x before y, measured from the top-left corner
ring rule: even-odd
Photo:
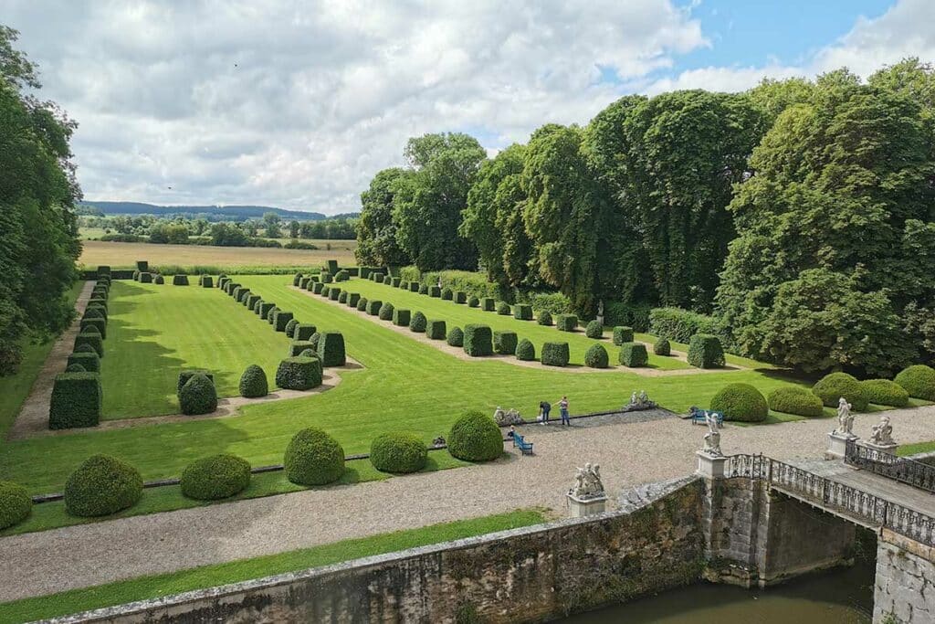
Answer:
[[[143,479],[136,468],[116,457],[94,455],[65,482],[65,509],[81,517],[116,514],[142,495]]]

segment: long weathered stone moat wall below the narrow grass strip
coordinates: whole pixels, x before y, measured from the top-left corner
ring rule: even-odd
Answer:
[[[692,478],[658,497],[637,497],[619,512],[59,621],[542,621],[697,581],[704,567],[703,493]]]

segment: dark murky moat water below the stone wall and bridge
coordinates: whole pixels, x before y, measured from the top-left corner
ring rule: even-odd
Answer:
[[[766,589],[701,584],[568,617],[568,624],[869,624],[873,565],[862,563]]]

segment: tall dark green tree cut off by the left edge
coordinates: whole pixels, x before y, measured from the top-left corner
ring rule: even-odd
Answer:
[[[16,370],[27,335],[48,337],[71,322],[65,290],[80,254],[68,142],[76,124],[37,90],[36,67],[0,25],[0,374]]]

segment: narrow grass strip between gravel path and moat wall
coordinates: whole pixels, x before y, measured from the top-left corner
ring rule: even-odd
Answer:
[[[538,510],[518,510],[510,514],[488,515],[431,525],[421,529],[382,533],[279,555],[203,566],[178,573],[142,576],[95,588],[75,589],[41,598],[5,602],[0,604],[0,622],[24,622],[65,616],[125,602],[170,596],[183,591],[217,587],[272,574],[295,572],[340,561],[396,552],[416,546],[439,544],[498,530],[527,527],[544,522],[545,519],[545,516]]]

